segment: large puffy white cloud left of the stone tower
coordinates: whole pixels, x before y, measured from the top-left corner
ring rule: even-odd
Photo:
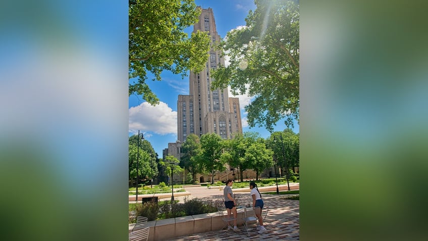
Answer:
[[[150,131],[161,135],[177,135],[177,112],[164,102],[156,106],[143,102],[139,106],[129,108],[128,129],[130,133],[140,130],[143,133]]]

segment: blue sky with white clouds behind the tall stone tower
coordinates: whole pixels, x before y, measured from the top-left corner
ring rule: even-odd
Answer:
[[[253,0],[196,0],[197,6],[211,8],[216,20],[217,32],[222,38],[226,33],[238,26],[245,25],[245,17],[249,10],[254,10]],[[193,31],[193,26],[186,29],[187,33]],[[162,73],[162,81],[151,81],[152,76],[148,76],[148,85],[157,95],[159,105],[153,107],[143,102],[141,97],[131,95],[129,97],[129,135],[136,134],[138,130],[144,133],[144,138],[151,142],[159,157],[162,157],[162,150],[168,147],[169,142],[177,140],[177,100],[179,94],[189,94],[189,78],[182,79],[181,75],[174,75],[169,71]],[[230,94],[229,97],[232,97]],[[246,123],[246,113],[244,106],[250,103],[251,99],[246,95],[237,96],[241,105],[241,117],[243,131],[258,132],[263,138],[270,136],[269,131],[263,127],[249,128]],[[299,132],[299,125],[294,124],[294,132]],[[284,120],[280,120],[275,126],[275,131],[285,128]]]

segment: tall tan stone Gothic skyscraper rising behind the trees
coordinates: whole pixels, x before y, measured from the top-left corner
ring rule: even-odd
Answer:
[[[193,31],[206,32],[211,37],[212,46],[214,42],[221,41],[221,37],[217,33],[212,9],[201,11],[199,22],[193,26]],[[227,88],[210,90],[210,71],[224,64],[221,51],[211,47],[205,68],[199,73],[190,71],[189,95],[178,95],[178,141],[168,144],[169,155],[180,159],[181,142],[186,141],[186,137],[191,133],[197,136],[217,133],[224,139],[232,138],[233,133],[242,133],[239,99],[229,98]]]

